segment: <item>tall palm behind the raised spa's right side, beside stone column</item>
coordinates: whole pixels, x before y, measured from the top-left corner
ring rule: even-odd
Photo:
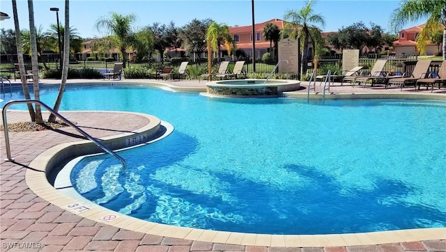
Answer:
[[[284,30],[291,30],[289,36],[300,40],[300,52],[302,53],[301,77],[307,72],[309,40],[314,41],[311,30],[318,29],[317,25],[325,26],[325,19],[321,14],[313,13],[314,2],[315,0],[309,0],[305,2],[305,6],[300,8],[300,10],[289,10],[284,17],[286,20]],[[282,36],[286,36],[286,33],[282,33]]]

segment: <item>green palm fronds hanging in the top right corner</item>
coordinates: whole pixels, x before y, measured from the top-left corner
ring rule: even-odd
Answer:
[[[403,0],[390,17],[390,27],[399,31],[408,22],[424,17],[428,19],[418,35],[418,49],[424,52],[431,32],[438,29],[438,24],[443,24],[443,60],[446,60],[446,0]]]

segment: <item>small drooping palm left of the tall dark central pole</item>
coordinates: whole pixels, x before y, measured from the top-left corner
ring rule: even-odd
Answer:
[[[210,46],[213,50],[217,51],[217,61],[220,62],[220,45],[223,42],[224,47],[231,54],[232,50],[232,36],[229,33],[229,26],[226,24],[217,24],[212,22],[209,25],[208,32],[206,33],[206,40],[210,41]]]

